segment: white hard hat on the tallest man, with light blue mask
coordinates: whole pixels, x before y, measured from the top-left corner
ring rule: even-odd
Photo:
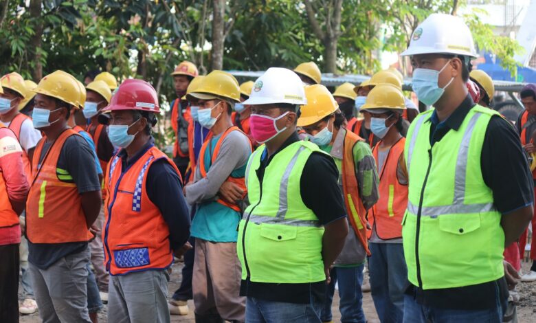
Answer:
[[[430,14],[412,34],[410,46],[402,56],[454,54],[478,57],[469,27],[458,16]]]

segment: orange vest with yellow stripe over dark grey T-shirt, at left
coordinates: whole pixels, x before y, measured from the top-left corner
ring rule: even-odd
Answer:
[[[69,243],[88,241],[86,216],[76,184],[65,170],[58,168],[58,159],[73,129],[61,133],[49,148],[41,165],[39,159],[47,137],[38,142],[32,160],[34,176],[26,202],[26,236],[32,243]]]

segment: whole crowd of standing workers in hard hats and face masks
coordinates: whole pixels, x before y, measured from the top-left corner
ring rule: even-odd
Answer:
[[[493,82],[448,14],[402,55],[423,113],[397,69],[331,93],[312,62],[239,85],[184,61],[172,158],[144,80],[3,76],[1,321],[38,308],[43,322],[98,322],[104,301],[109,322],[170,322],[193,299],[196,322],[332,322],[338,289],[341,322],[366,322],[368,270],[381,322],[512,322],[511,292],[536,280],[535,263],[520,276],[536,85],[515,126],[489,109]]]

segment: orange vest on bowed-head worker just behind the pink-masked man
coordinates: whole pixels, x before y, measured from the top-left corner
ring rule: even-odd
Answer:
[[[365,251],[370,256],[368,249],[367,233],[366,233],[366,209],[359,199],[359,186],[357,185],[357,177],[355,176],[355,161],[354,161],[354,146],[357,142],[364,141],[351,131],[346,131],[344,136],[344,155],[342,156],[342,192],[344,194],[344,205],[348,212],[348,219],[352,225],[357,238],[361,241]]]

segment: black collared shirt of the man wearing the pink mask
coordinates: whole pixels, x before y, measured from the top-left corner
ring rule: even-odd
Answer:
[[[273,155],[268,156],[265,150],[260,158],[260,166],[256,170],[259,181],[263,181],[265,169],[273,157],[299,140],[298,134],[293,133]],[[338,179],[339,171],[331,156],[324,153],[312,153],[309,156],[300,178],[300,194],[304,204],[313,210],[322,225],[346,216],[342,192],[337,183]],[[311,302],[311,297],[321,301],[325,293],[325,280],[304,284],[272,284],[242,280],[240,290],[241,296],[300,304]]]

